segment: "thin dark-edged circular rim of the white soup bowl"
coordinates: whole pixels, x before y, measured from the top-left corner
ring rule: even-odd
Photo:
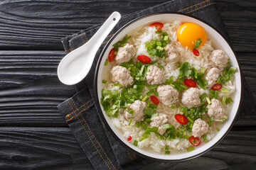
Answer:
[[[112,38],[110,38],[110,40],[107,42],[107,44],[105,45],[105,47],[103,48],[102,52],[100,53],[100,57],[98,59],[97,62],[97,66],[95,69],[95,76],[94,76],[94,92],[95,92],[95,103],[96,103],[96,107],[97,107],[97,111],[100,114],[100,118],[102,119],[103,123],[105,124],[105,126],[107,127],[107,130],[110,131],[111,135],[114,137],[115,140],[117,140],[123,147],[125,147],[126,149],[128,149],[129,151],[133,152],[134,154],[139,155],[140,157],[144,157],[146,159],[152,159],[154,161],[161,161],[161,162],[183,162],[183,161],[187,161],[190,159],[194,159],[196,157],[200,157],[202,154],[205,154],[206,152],[210,151],[211,149],[213,149],[213,147],[215,147],[216,145],[218,145],[218,143],[224,139],[224,137],[228,134],[228,132],[231,130],[231,128],[233,127],[235,120],[238,118],[238,113],[240,112],[241,106],[242,106],[242,98],[243,98],[243,89],[244,89],[244,82],[242,81],[242,70],[240,67],[240,63],[238,62],[238,67],[239,67],[239,72],[240,72],[240,79],[241,79],[241,91],[240,91],[240,103],[238,106],[238,110],[235,113],[235,118],[233,120],[233,122],[231,123],[230,127],[228,128],[228,130],[225,132],[225,134],[220,137],[220,140],[218,140],[218,142],[215,142],[214,145],[210,146],[208,149],[204,150],[203,152],[200,152],[198,154],[194,154],[191,155],[191,157],[186,157],[183,159],[158,159],[158,158],[154,158],[154,157],[149,157],[146,154],[142,154],[140,152],[137,152],[136,150],[132,149],[132,147],[129,147],[128,145],[126,145],[124,142],[122,142],[122,140],[119,139],[119,137],[117,137],[117,135],[114,133],[114,131],[112,130],[112,128],[110,128],[110,125],[107,123],[107,120],[105,119],[104,113],[102,112],[102,109],[100,108],[100,102],[99,102],[99,96],[98,96],[98,90],[97,90],[97,78],[98,78],[98,73],[99,73],[99,69],[100,69],[100,63],[102,62],[102,58],[103,55],[105,54],[107,47],[109,47],[109,45],[111,44],[112,40],[114,40],[114,38],[120,33],[122,32],[122,30],[124,30],[124,28],[127,28],[130,24],[141,20],[142,18],[146,18],[149,16],[156,16],[156,15],[161,15],[161,14],[178,14],[181,16],[188,16],[191,18],[195,18],[198,21],[201,21],[203,23],[205,23],[207,26],[209,26],[210,28],[213,28],[213,30],[215,30],[218,34],[220,34],[220,36],[225,40],[225,42],[228,43],[228,46],[230,47],[230,49],[232,50],[233,54],[235,55],[235,60],[237,60],[238,62],[238,57],[235,54],[232,45],[230,44],[229,40],[227,38],[225,38],[226,36],[224,36],[222,33],[220,33],[220,31],[216,30],[213,26],[210,26],[209,23],[207,23],[206,21],[203,21],[201,18],[198,18],[196,16],[191,16],[190,14],[187,13],[178,13],[178,12],[157,12],[157,13],[149,13],[146,14],[144,16],[140,16],[138,18],[133,19],[132,21],[129,21],[128,23],[126,23],[124,26],[122,26],[122,28],[119,28],[119,30],[117,30],[116,33],[114,33],[114,35],[112,36]]]

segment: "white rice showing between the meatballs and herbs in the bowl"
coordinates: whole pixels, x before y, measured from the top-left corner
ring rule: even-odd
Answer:
[[[209,69],[210,66],[210,53],[214,50],[212,45],[211,45],[211,40],[207,40],[206,43],[200,47],[200,55],[196,57],[193,55],[191,50],[188,50],[187,47],[183,47],[180,42],[177,40],[177,33],[176,30],[178,30],[178,26],[180,26],[181,22],[180,21],[174,21],[173,23],[165,23],[164,27],[162,30],[164,32],[167,32],[169,34],[169,38],[171,40],[171,44],[176,45],[177,51],[179,55],[181,56],[180,63],[182,62],[189,62],[191,64],[191,67],[194,67],[196,70],[201,70],[202,67]],[[157,60],[156,57],[152,57],[147,54],[146,52],[146,47],[145,47],[145,42],[150,42],[153,38],[158,38],[159,39],[159,34],[155,33],[156,28],[151,28],[149,26],[144,26],[143,28],[140,28],[140,30],[133,31],[132,38],[129,40],[129,43],[132,43],[136,48],[137,48],[137,55],[147,55],[151,58],[151,60]],[[135,60],[134,60],[135,61]],[[159,60],[160,64],[164,67],[165,71],[165,79],[169,79],[169,77],[174,77],[174,81],[178,77],[178,64],[170,64],[163,62]],[[111,69],[113,66],[109,64],[108,69]],[[200,72],[200,71],[199,71]],[[109,79],[110,80],[110,79]],[[106,89],[110,90],[118,90],[119,92],[121,89],[119,89],[118,86],[112,86],[113,83],[108,81],[109,83],[107,84]],[[233,96],[234,91],[235,91],[235,81],[228,81],[227,84],[225,84],[226,89],[230,89],[230,92],[228,94],[223,94],[222,92],[219,91],[218,99],[221,101],[223,96],[230,97]],[[144,96],[146,92],[149,91],[149,89],[145,86],[144,88]],[[200,89],[201,94],[207,93],[208,90],[203,90]],[[230,107],[231,105],[225,105],[225,115],[229,115],[230,113]],[[174,109],[166,107],[159,104],[158,108],[156,109],[157,113],[165,113],[167,115],[171,115],[171,124],[174,125],[175,128],[179,127],[179,123],[175,120],[174,115],[177,113],[181,113],[179,111],[179,108],[176,107]],[[182,114],[182,113],[181,113]],[[129,120],[126,120],[124,118],[123,110],[119,111],[119,116],[118,118],[112,118],[112,123],[115,127],[117,127],[119,130],[121,130],[124,134],[124,137],[127,138],[129,136],[132,137],[132,140],[130,142],[134,142],[134,140],[139,141],[139,138],[142,137],[142,134],[144,132],[142,127],[137,127],[134,122],[131,123],[131,125],[128,126]],[[208,140],[213,139],[215,136],[215,133],[217,133],[216,128],[221,128],[221,124],[218,122],[212,123],[211,127],[208,130]],[[202,139],[201,139],[202,140]],[[203,140],[201,141],[203,142]],[[176,151],[184,151],[186,148],[191,146],[191,143],[188,142],[186,139],[181,139],[181,138],[176,138],[172,140],[160,140],[159,138],[156,137],[156,135],[152,132],[149,138],[146,140],[142,140],[142,142],[138,143],[139,148],[147,149],[152,152],[157,152],[157,153],[164,153],[166,145],[169,145],[171,152],[174,153]]]

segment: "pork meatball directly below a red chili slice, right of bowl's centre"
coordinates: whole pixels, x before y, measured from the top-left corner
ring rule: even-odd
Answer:
[[[184,91],[181,96],[181,103],[187,108],[198,106],[201,103],[199,89],[191,87],[188,90]]]

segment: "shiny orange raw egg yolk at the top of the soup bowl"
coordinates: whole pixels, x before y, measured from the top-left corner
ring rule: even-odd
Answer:
[[[190,49],[193,49],[195,41],[201,38],[201,47],[206,42],[206,30],[196,23],[183,23],[178,28],[177,38],[181,45]]]

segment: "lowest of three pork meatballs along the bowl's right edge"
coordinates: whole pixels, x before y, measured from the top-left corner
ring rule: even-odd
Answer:
[[[208,115],[213,119],[222,119],[223,115],[225,114],[225,108],[218,99],[211,99],[211,105],[208,105],[207,108]]]

